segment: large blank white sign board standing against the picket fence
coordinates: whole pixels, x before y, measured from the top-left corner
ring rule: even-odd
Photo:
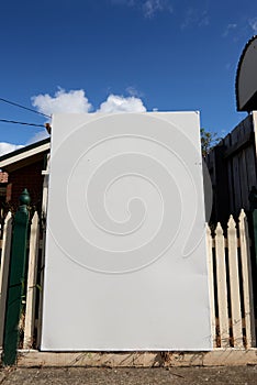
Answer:
[[[198,112],[53,119],[42,350],[210,350]]]

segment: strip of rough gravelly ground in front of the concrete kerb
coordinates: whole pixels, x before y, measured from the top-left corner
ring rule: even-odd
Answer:
[[[257,384],[257,365],[155,369],[2,369],[0,385]]]

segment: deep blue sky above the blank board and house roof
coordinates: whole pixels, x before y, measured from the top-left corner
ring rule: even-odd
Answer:
[[[43,112],[63,101],[85,112],[200,110],[201,125],[222,135],[246,116],[234,85],[254,34],[253,0],[1,2],[0,98]],[[1,101],[0,119],[45,122]],[[41,138],[41,128],[0,122],[1,153]]]

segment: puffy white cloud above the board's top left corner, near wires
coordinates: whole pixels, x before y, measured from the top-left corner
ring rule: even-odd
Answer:
[[[82,89],[70,90],[58,89],[54,97],[48,94],[32,97],[32,105],[42,113],[85,113],[89,112],[92,106]]]

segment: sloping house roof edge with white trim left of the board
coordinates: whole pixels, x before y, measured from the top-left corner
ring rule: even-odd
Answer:
[[[0,169],[12,172],[29,164],[38,162],[49,152],[51,138],[30,144],[11,153],[0,156]]]

